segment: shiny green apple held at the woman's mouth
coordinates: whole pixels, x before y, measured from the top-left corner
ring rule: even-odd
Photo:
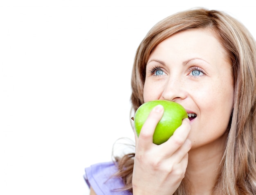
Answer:
[[[149,113],[156,105],[161,104],[164,107],[164,114],[155,128],[153,143],[160,145],[166,142],[180,127],[182,120],[188,118],[188,114],[182,105],[168,100],[154,100],[142,104],[134,116],[134,125],[137,136],[141,131],[142,125],[148,118]]]

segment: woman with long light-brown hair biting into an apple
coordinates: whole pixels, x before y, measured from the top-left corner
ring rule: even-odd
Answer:
[[[193,9],[156,24],[135,56],[132,109],[166,99],[194,117],[155,145],[153,132],[164,112],[156,106],[135,136],[136,155],[116,158],[117,168],[86,169],[91,194],[255,195],[255,57],[253,37],[223,12]],[[102,170],[110,192],[91,174]]]

